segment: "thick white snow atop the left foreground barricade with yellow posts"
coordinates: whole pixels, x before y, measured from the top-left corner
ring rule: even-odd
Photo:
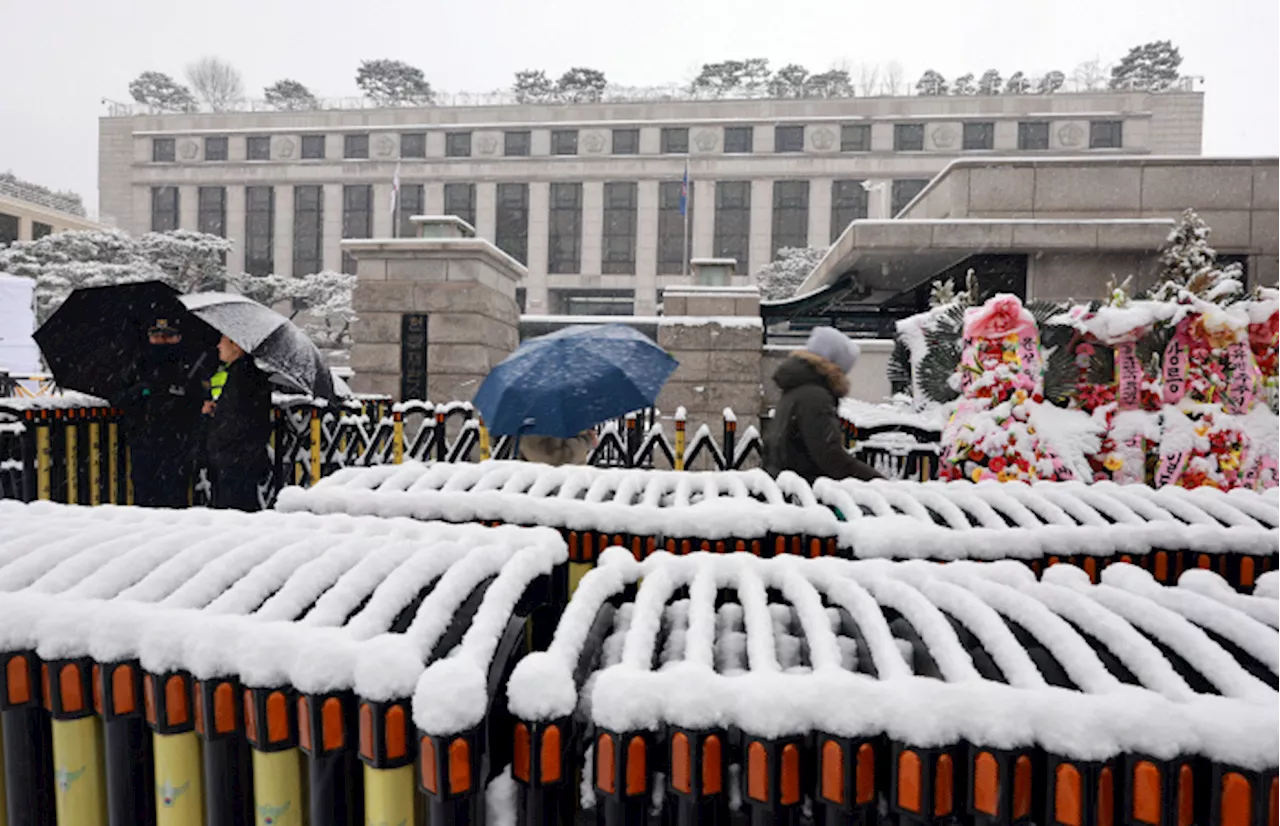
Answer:
[[[0,501],[0,649],[375,700],[411,697],[445,654],[486,681],[517,602],[567,560],[543,528],[347,515]],[[474,713],[471,677],[433,671],[433,695],[456,700],[433,720]]]

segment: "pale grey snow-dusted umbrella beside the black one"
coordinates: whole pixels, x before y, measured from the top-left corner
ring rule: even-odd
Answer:
[[[324,356],[306,333],[275,310],[227,292],[183,296],[182,304],[253,356],[276,384],[317,398],[337,398]]]

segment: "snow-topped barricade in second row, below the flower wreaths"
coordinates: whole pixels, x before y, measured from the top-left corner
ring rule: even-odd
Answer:
[[[1133,562],[1165,584],[1194,567],[1245,592],[1260,575],[1280,569],[1275,489],[819,479],[813,493],[844,520],[840,556],[1009,558],[1036,572],[1071,562],[1093,581],[1112,562]]]

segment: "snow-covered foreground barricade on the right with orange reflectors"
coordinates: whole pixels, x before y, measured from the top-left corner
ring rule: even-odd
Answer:
[[[512,675],[517,822],[1277,826],[1266,579],[611,548]]]

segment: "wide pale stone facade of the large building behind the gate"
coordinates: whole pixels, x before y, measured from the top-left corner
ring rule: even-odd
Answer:
[[[1199,155],[1198,91],[116,115],[100,214],[234,242],[233,271],[355,271],[344,238],[457,215],[525,264],[529,315],[653,315],[689,255],[735,283],[891,218],[961,158]],[[392,213],[393,181],[399,198]]]

